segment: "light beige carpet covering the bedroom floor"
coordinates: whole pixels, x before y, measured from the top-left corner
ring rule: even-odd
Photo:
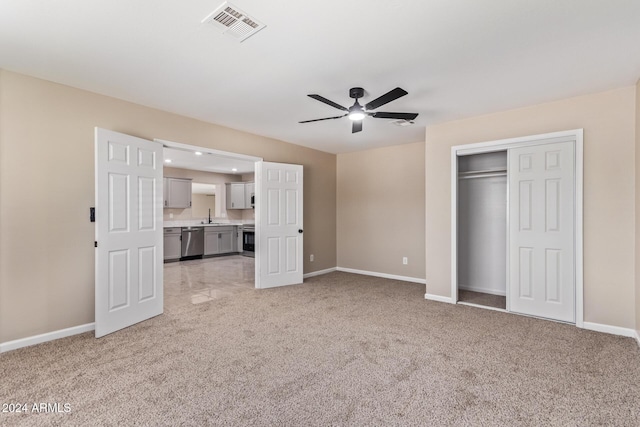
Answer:
[[[636,342],[331,273],[0,355],[2,425],[638,426]]]

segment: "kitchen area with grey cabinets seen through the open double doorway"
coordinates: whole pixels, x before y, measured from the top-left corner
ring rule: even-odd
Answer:
[[[252,162],[164,148],[167,304],[198,304],[255,287]]]

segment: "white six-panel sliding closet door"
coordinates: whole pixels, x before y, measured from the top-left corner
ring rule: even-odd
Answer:
[[[509,303],[575,322],[574,142],[509,149]]]

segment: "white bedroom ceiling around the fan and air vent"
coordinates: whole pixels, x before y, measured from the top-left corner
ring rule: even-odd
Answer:
[[[637,0],[234,0],[267,25],[242,43],[201,24],[221,3],[2,0],[0,67],[332,153],[640,77]],[[297,123],[354,86],[415,125]]]

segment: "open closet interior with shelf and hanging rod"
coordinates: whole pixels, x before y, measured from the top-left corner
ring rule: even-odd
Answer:
[[[456,302],[507,310],[507,151],[457,162]]]

